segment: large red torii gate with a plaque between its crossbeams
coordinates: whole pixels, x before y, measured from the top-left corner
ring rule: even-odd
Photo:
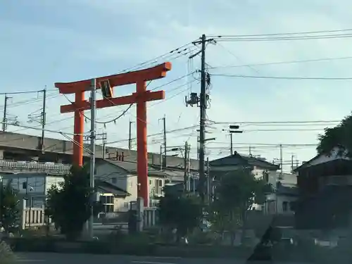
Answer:
[[[152,68],[136,70],[128,73],[109,75],[96,78],[96,89],[101,89],[101,82],[110,83],[111,87],[125,84],[136,84],[136,92],[129,96],[115,98],[103,98],[96,100],[96,108],[110,106],[122,106],[137,103],[137,177],[139,197],[144,199],[144,206],[148,206],[148,160],[146,143],[146,102],[165,98],[165,91],[151,92],[146,90],[146,81],[160,79],[171,70],[171,63],[163,63]],[[61,94],[75,94],[75,102],[61,106],[61,113],[75,112],[73,164],[82,166],[83,163],[83,133],[84,133],[84,110],[90,109],[89,101],[84,100],[84,92],[91,89],[91,80],[77,82],[56,82],[55,87]]]

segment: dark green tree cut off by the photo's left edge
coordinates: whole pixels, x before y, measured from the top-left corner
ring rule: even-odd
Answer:
[[[9,180],[5,185],[0,182],[0,222],[6,230],[15,227],[20,219],[18,192],[11,185]]]

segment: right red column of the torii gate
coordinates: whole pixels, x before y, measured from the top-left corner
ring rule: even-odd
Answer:
[[[148,181],[148,149],[146,146],[146,82],[137,82],[137,178],[138,178],[138,197],[144,200],[144,206],[149,205],[149,181]]]

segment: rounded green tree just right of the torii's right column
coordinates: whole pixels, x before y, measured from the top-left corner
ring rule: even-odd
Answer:
[[[161,224],[177,229],[177,239],[185,237],[199,227],[202,218],[202,206],[199,197],[194,194],[165,193],[158,205]]]

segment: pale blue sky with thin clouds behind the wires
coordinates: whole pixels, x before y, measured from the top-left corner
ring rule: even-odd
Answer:
[[[70,82],[120,70],[155,58],[187,44],[201,34],[263,34],[275,32],[305,32],[352,28],[352,4],[348,1],[142,1],[142,0],[61,0],[61,1],[0,1],[0,92],[49,89],[48,129],[73,132],[73,120],[60,114],[59,106],[67,99],[54,91],[54,82]],[[202,20],[203,18],[203,20]],[[352,56],[352,39],[319,39],[289,42],[221,42],[208,45],[207,63],[214,67],[211,107],[208,118],[217,122],[340,120],[351,111],[352,81],[322,80],[258,80],[218,77],[215,74],[269,75],[296,77],[351,77],[352,59],[231,67],[277,61]],[[196,49],[193,47],[192,49]],[[163,62],[163,61],[158,61]],[[173,69],[163,80],[150,87],[170,82],[199,69],[199,58],[187,56],[172,60]],[[229,67],[224,67],[229,66]],[[161,132],[158,120],[166,115],[168,130],[196,125],[199,109],[184,106],[184,96],[199,92],[199,84],[182,84],[193,80],[183,78],[163,89],[166,100],[153,106],[149,103],[149,134]],[[177,88],[180,87],[180,88]],[[118,87],[115,96],[130,94],[133,86]],[[39,96],[39,97],[38,97]],[[14,95],[9,113],[23,125],[27,114],[41,107],[40,94]],[[32,101],[30,101],[32,100]],[[0,99],[1,101],[1,99]],[[25,103],[21,103],[25,102]],[[115,117],[125,106],[100,110],[99,120]],[[0,108],[3,110],[3,107]],[[89,113],[87,112],[87,115]],[[128,122],[135,120],[135,108],[117,124],[99,125],[108,132],[108,142],[128,137]],[[59,121],[61,120],[61,121]],[[334,124],[332,124],[334,125]],[[254,126],[243,125],[244,134],[235,134],[235,149],[270,160],[279,158],[275,146],[260,144],[315,144],[317,135],[326,125],[316,126]],[[215,125],[217,142],[208,145],[210,158],[228,153],[229,137],[221,130],[227,125]],[[316,129],[314,131],[263,132],[264,129]],[[9,127],[9,131],[18,131]],[[87,127],[88,131],[88,127]],[[20,130],[38,134],[35,130]],[[61,136],[47,133],[50,137]],[[161,137],[151,137],[149,149],[158,151]],[[168,134],[169,145],[185,140],[196,151],[196,132]],[[127,146],[120,142],[115,146]],[[314,146],[284,147],[284,160],[291,154],[299,161],[315,155]]]

